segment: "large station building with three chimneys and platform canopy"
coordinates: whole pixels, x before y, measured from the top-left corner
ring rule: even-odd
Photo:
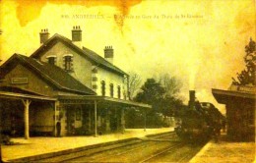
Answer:
[[[125,110],[150,105],[130,101],[129,76],[83,47],[82,29],[72,39],[47,29],[30,57],[14,54],[1,66],[1,132],[13,136],[78,136],[124,132]]]

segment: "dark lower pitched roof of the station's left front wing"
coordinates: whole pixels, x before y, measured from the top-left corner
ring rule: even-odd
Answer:
[[[34,58],[26,57],[21,54],[14,54],[4,65],[2,65],[2,68],[4,68],[4,73],[7,73],[6,71],[8,71],[8,65],[17,64],[19,62],[28,66],[30,70],[38,74],[39,77],[45,81],[49,81],[58,89],[77,92],[80,94],[96,94],[94,90],[87,87],[80,81],[77,81],[59,67],[40,62]]]

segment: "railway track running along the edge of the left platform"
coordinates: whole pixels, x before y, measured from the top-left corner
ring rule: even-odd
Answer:
[[[34,159],[26,162],[104,162],[109,157],[115,158],[140,151],[149,146],[156,146],[159,141],[167,141],[175,136],[174,132],[160,135],[147,136],[146,138],[133,138],[128,141],[110,143],[99,147],[81,151],[61,154],[43,159]],[[165,143],[165,142],[163,142]]]

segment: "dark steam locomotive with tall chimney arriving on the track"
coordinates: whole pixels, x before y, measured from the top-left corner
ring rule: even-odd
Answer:
[[[220,134],[224,116],[210,102],[199,102],[195,90],[189,91],[189,103],[181,122],[175,128],[177,136],[189,141],[204,141]]]

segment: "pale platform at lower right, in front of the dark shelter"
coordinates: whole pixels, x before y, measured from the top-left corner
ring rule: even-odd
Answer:
[[[209,141],[190,163],[256,163],[255,142],[227,141],[223,134],[219,141]]]

